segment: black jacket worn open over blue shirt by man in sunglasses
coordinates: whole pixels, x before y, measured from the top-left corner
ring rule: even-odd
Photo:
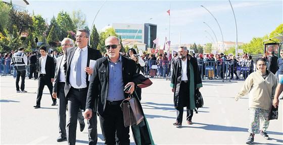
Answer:
[[[85,109],[93,109],[94,112],[103,114],[106,106],[109,83],[109,62],[108,57],[97,60],[93,74],[90,77],[86,98]],[[122,75],[124,86],[128,82],[139,82],[136,76],[136,64],[133,60],[122,56]],[[127,97],[127,94],[124,94]]]

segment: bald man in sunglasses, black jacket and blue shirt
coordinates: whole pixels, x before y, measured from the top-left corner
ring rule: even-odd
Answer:
[[[119,54],[121,45],[119,38],[109,36],[105,40],[108,57],[97,60],[90,78],[87,92],[84,117],[91,119],[99,114],[104,132],[105,144],[116,144],[115,133],[119,144],[129,144],[129,127],[124,126],[121,102],[132,93],[137,84],[133,77],[136,64],[133,60]],[[127,92],[124,87],[131,85]],[[93,110],[95,109],[95,110]]]

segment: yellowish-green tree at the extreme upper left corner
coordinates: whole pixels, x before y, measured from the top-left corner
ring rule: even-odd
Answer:
[[[0,33],[6,35],[4,29],[7,29],[9,23],[9,13],[12,7],[0,1]]]

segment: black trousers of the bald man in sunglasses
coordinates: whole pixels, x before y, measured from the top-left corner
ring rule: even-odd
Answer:
[[[108,101],[104,113],[99,115],[102,130],[104,131],[105,144],[116,144],[115,134],[118,144],[130,144],[129,126],[124,126],[123,112],[120,103],[111,105]]]

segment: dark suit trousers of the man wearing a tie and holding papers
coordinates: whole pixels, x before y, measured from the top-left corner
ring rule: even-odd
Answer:
[[[76,129],[77,129],[77,118],[78,110],[81,108],[85,110],[87,88],[76,89],[71,87],[67,95],[68,99],[68,117],[67,123],[67,140],[68,144],[76,143]],[[87,120],[88,126],[88,144],[97,144],[97,115],[96,112],[92,112],[92,117]]]

